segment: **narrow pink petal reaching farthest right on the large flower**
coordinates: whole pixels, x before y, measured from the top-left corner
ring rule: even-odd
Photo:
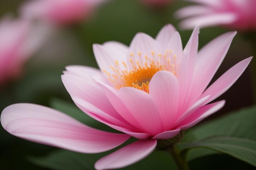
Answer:
[[[231,67],[226,73],[224,73],[220,78],[218,78],[206,91],[202,94],[201,97],[211,95],[208,99],[208,102],[213,101],[223,93],[225,93],[242,75],[245,71],[245,68],[249,65],[249,62],[252,60],[252,57],[249,57],[238,64]]]

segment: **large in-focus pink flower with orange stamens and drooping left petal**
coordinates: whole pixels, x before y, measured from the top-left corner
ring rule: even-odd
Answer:
[[[220,35],[199,52],[198,33],[196,28],[183,50],[179,33],[169,24],[156,39],[138,33],[130,47],[119,42],[94,44],[101,71],[67,66],[62,81],[74,103],[123,134],[90,128],[34,104],[5,108],[1,124],[18,137],[85,153],[110,150],[135,137],[134,143],[99,159],[95,168],[135,163],[155,149],[157,139],[173,138],[222,108],[223,100],[208,103],[227,91],[252,59],[239,62],[206,89],[236,32]]]

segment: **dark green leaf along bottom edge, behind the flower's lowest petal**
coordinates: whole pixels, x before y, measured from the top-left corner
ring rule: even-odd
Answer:
[[[100,154],[83,154],[68,150],[56,150],[45,157],[33,157],[30,160],[45,168],[53,170],[94,170],[94,163],[111,151]],[[170,155],[162,151],[154,151],[145,159],[121,170],[161,169],[177,170]]]

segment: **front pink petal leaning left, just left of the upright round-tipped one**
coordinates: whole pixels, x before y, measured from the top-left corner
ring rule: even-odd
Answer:
[[[147,133],[157,135],[163,131],[159,110],[148,93],[132,87],[123,87],[119,89],[118,95]]]

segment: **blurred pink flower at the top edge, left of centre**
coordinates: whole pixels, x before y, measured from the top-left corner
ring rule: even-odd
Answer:
[[[30,0],[21,7],[25,18],[43,19],[54,24],[70,24],[88,18],[106,0]]]

